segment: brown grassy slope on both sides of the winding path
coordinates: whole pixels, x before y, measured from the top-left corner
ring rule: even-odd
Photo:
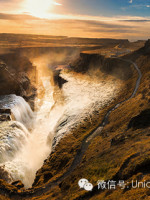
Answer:
[[[145,189],[139,190],[115,190],[95,191],[86,193],[78,187],[80,178],[87,178],[96,187],[99,179],[121,180],[125,179],[131,182],[130,178],[139,180],[149,178],[149,128],[140,130],[127,130],[127,125],[131,118],[138,115],[142,110],[149,108],[149,66],[150,56],[144,55],[142,52],[136,52],[129,55],[140,67],[143,77],[140,88],[135,98],[122,104],[115,110],[110,118],[109,124],[105,127],[102,134],[98,135],[87,152],[85,153],[82,162],[59,186],[52,188],[47,193],[42,195],[34,194],[31,198],[25,199],[144,199],[148,198],[148,191]],[[146,62],[145,62],[146,60]],[[122,90],[119,99],[120,101],[129,96],[135,85],[135,77],[128,80],[127,87]],[[116,102],[115,102],[116,103]],[[112,106],[112,105],[111,105]],[[41,187],[46,183],[61,176],[71,165],[77,149],[80,147],[81,141],[85,135],[94,128],[94,126],[102,120],[105,108],[97,116],[93,118],[93,123],[89,123],[86,119],[84,123],[79,124],[72,130],[72,135],[68,135],[61,140],[56,148],[56,151],[45,162],[44,166],[39,170],[35,187]],[[146,170],[145,170],[146,169]],[[140,173],[140,174],[139,174]],[[1,187],[6,186],[1,183]],[[11,186],[7,186],[11,187]],[[11,188],[8,188],[8,190]],[[143,198],[143,196],[145,196]],[[1,197],[4,199],[5,197]]]

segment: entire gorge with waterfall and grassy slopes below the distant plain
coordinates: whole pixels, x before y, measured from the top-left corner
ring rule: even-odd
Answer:
[[[0,199],[149,197],[148,188],[98,189],[99,180],[148,181],[150,163],[149,40],[126,53],[133,43],[102,41],[115,56],[33,46],[0,55]]]

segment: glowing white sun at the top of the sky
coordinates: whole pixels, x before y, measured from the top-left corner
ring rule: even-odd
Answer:
[[[48,18],[49,12],[54,5],[61,4],[53,0],[25,0],[23,3],[25,12],[39,18]]]

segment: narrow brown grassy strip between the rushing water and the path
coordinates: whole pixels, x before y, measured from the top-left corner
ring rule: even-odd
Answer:
[[[135,81],[129,81],[127,85],[124,85],[124,90],[128,96],[132,92],[131,85],[133,87],[135,85]],[[124,97],[122,93],[116,99],[116,101],[119,102],[121,99],[124,100],[125,98],[126,97]],[[116,102],[113,102],[103,110],[95,111],[93,113],[92,123],[91,116],[87,116],[83,121],[80,122],[80,124],[77,124],[72,129],[71,135],[66,136],[60,141],[59,145],[56,147],[56,151],[50,156],[49,159],[47,159],[44,166],[38,171],[34,188],[32,188],[32,190],[29,192],[34,191],[35,188],[41,187],[42,185],[44,186],[49,181],[55,180],[57,177],[61,176],[67,171],[74,159],[74,156],[76,155],[77,150],[80,148],[83,138],[102,121],[104,114],[107,112],[109,107],[113,106],[113,104],[116,104]],[[2,183],[2,186],[4,186],[5,189],[7,188],[8,191],[11,190],[10,186],[6,185],[4,182]]]

